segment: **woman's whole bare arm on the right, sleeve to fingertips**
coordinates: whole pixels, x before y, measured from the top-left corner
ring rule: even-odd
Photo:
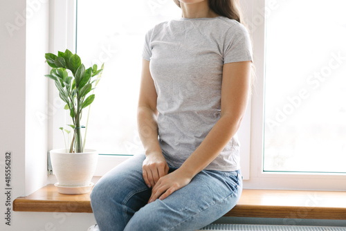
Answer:
[[[164,199],[188,185],[192,178],[207,167],[224,149],[239,129],[251,88],[251,62],[224,64],[221,86],[221,118],[201,145],[171,174],[160,178],[152,190],[149,203]]]

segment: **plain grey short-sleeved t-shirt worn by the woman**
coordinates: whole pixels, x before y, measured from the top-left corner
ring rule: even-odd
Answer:
[[[180,18],[148,31],[143,58],[157,93],[161,149],[168,164],[180,167],[220,118],[223,65],[252,61],[251,40],[233,19]],[[239,168],[235,135],[206,169]]]

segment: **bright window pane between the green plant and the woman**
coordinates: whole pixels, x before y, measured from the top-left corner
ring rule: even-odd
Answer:
[[[136,109],[145,33],[180,12],[169,0],[78,1],[78,55],[86,66],[104,62],[86,147],[102,154],[136,154],[143,149]]]

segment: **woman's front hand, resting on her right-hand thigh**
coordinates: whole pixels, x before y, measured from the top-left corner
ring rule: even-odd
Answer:
[[[182,169],[176,169],[174,172],[161,177],[152,188],[152,196],[150,196],[148,203],[152,203],[157,198],[160,200],[167,198],[176,190],[180,190],[188,185],[191,180],[191,175]]]

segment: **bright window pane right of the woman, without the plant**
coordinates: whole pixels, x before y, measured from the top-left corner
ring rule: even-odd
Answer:
[[[266,1],[264,171],[346,172],[346,1]]]

